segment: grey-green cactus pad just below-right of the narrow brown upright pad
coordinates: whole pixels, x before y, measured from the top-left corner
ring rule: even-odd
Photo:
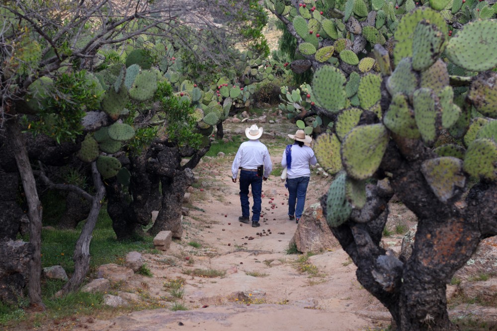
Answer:
[[[403,93],[410,99],[417,89],[418,76],[411,65],[411,58],[402,59],[397,65],[394,72],[387,80],[387,89],[391,95]]]

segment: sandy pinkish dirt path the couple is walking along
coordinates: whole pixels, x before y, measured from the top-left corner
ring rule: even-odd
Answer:
[[[283,147],[272,151],[273,163],[281,161],[282,152]],[[165,308],[97,317],[74,330],[343,331],[389,324],[389,314],[357,282],[355,266],[339,247],[307,263],[302,255],[286,254],[297,224],[288,220],[286,189],[279,177],[263,183],[262,226],[238,221],[239,188],[231,181],[231,162],[232,156],[226,156],[199,165],[200,187],[192,192],[182,240],[173,242],[165,255],[146,255],[154,277],[135,274],[121,284],[121,292],[131,292],[121,296],[155,300]],[[317,202],[328,187],[329,180],[313,175],[306,205]],[[258,236],[261,232],[265,235]],[[209,277],[217,272],[225,274]],[[175,282],[184,282],[182,298],[171,297],[167,288]],[[188,310],[171,311],[173,305]]]

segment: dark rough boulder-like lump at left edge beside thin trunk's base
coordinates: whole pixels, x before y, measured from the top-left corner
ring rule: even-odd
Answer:
[[[27,284],[33,247],[22,240],[0,239],[0,301],[17,304]]]

